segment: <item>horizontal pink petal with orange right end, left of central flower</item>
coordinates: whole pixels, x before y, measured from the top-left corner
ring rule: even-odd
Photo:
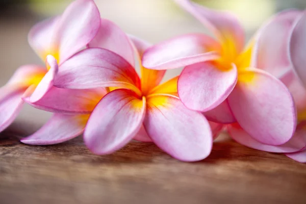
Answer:
[[[49,112],[89,114],[106,93],[104,88],[60,89],[51,87],[42,98],[34,103],[31,103],[30,97],[25,97],[23,100],[35,108]]]

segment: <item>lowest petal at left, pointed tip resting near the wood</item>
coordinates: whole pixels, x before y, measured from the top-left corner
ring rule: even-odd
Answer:
[[[88,116],[54,114],[37,132],[20,141],[32,145],[65,142],[83,133]]]

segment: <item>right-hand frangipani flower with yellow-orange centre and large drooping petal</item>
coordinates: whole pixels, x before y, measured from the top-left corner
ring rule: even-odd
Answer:
[[[207,116],[216,122],[238,121],[259,142],[286,143],[296,127],[292,96],[273,75],[254,68],[252,53],[261,50],[253,50],[252,40],[243,48],[244,32],[238,20],[188,0],[176,2],[205,24],[216,40],[204,34],[175,37],[148,48],[143,66],[155,70],[186,66],[177,82],[186,107],[211,110]],[[271,41],[274,38],[270,36]]]

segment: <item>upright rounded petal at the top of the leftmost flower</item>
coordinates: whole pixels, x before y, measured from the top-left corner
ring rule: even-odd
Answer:
[[[100,14],[94,1],[72,2],[57,22],[54,38],[58,43],[59,64],[84,48],[100,28]]]

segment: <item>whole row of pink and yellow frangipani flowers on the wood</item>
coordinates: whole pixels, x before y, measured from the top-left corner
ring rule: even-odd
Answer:
[[[306,13],[276,14],[245,46],[232,14],[175,2],[212,35],[151,45],[101,18],[93,0],[36,24],[29,43],[45,66],[21,66],[0,88],[0,131],[28,103],[54,115],[25,144],[83,134],[94,154],[106,155],[134,139],[198,161],[226,130],[245,146],[306,162]]]

